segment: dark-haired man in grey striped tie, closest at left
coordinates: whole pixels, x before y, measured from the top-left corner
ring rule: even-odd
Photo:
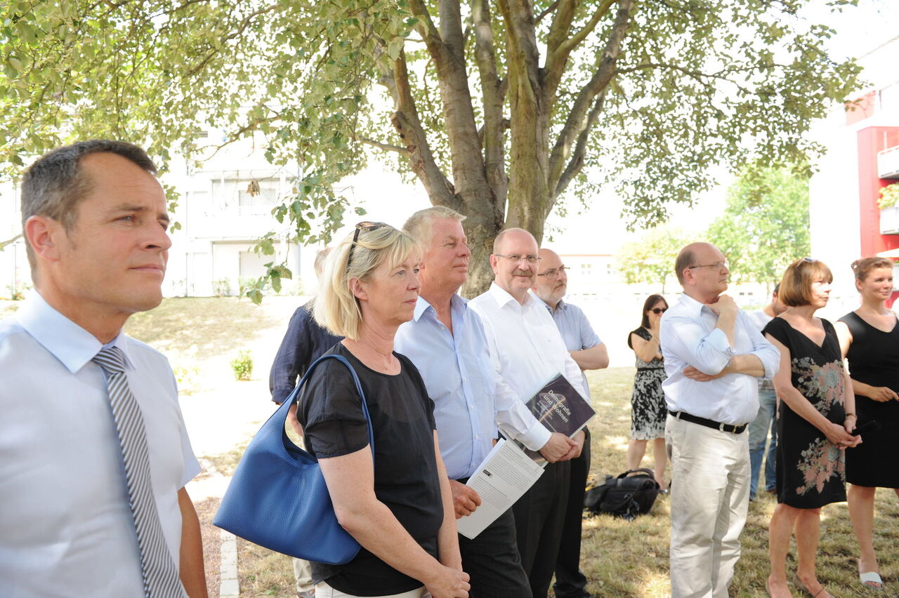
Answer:
[[[37,294],[0,323],[0,594],[207,594],[174,374],[121,330],[162,301],[155,174],[136,145],[87,141],[22,180]]]

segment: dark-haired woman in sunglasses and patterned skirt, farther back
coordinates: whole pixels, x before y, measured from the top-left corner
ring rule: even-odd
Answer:
[[[668,309],[662,295],[649,295],[643,304],[643,320],[640,327],[628,335],[628,347],[636,354],[634,394],[631,396],[630,443],[628,444],[628,470],[636,470],[643,461],[646,443],[653,441],[655,481],[662,489],[665,484],[665,396],[662,383],[665,365],[659,342],[659,321]]]

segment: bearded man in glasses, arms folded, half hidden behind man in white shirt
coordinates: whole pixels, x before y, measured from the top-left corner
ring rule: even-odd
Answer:
[[[556,327],[565,341],[565,348],[572,359],[584,370],[600,370],[609,367],[609,351],[596,333],[581,308],[562,301],[568,290],[565,264],[556,251],[541,248],[540,266],[534,294],[546,303]],[[590,385],[583,375],[584,399],[590,400]],[[571,480],[568,485],[568,504],[565,506],[565,523],[562,541],[556,559],[556,598],[591,598],[587,592],[587,578],[580,569],[581,524],[583,523],[583,494],[590,472],[590,431],[584,428],[586,437],[581,455],[571,461]]]

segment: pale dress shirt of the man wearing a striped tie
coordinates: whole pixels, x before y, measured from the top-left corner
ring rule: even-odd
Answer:
[[[175,566],[177,491],[200,472],[165,356],[120,333],[147,430],[156,510]],[[103,347],[35,295],[0,322],[0,594],[141,596],[138,540]]]

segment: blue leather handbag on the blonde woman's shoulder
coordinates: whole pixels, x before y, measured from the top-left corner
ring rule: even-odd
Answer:
[[[342,565],[359,552],[359,542],[337,523],[331,496],[316,457],[284,431],[288,411],[309,374],[326,359],[350,370],[369,425],[371,457],[375,439],[369,408],[352,365],[339,355],[325,355],[309,369],[246,447],[212,523],[254,544],[296,558]]]

